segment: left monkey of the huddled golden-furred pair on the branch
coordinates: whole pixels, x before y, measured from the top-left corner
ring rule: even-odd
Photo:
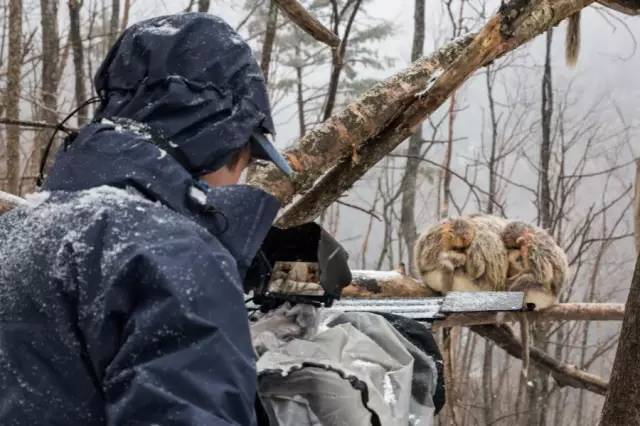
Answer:
[[[446,219],[428,228],[415,247],[423,282],[446,294],[506,289],[507,252],[494,216]],[[499,218],[495,218],[498,220]]]

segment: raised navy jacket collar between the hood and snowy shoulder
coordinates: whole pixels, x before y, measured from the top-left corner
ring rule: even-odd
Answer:
[[[278,200],[248,185],[211,188],[150,139],[145,127],[86,126],[58,154],[43,189],[134,188],[208,229],[234,256],[244,278],[275,219]]]

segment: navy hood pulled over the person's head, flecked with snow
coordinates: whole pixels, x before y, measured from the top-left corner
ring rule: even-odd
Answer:
[[[223,20],[203,13],[128,28],[95,76],[96,119],[148,125],[193,175],[221,167],[254,132],[274,134],[262,70]]]

